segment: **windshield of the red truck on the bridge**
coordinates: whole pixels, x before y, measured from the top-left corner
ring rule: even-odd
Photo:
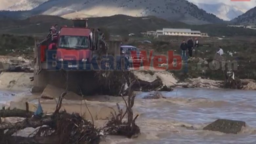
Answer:
[[[86,36],[60,36],[59,48],[63,49],[89,49],[89,39]]]

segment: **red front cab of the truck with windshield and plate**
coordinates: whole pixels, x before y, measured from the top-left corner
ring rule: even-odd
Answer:
[[[58,69],[86,69],[93,55],[93,35],[88,28],[62,27],[56,45]]]

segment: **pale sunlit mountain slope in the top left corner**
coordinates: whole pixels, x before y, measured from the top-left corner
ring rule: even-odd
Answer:
[[[0,10],[32,10],[48,0],[0,0]]]

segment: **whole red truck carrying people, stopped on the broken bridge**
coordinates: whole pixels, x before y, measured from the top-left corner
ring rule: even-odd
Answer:
[[[44,41],[40,45],[42,69],[86,70],[97,50],[97,34],[87,28],[87,21],[75,19],[73,27],[61,27],[57,43]],[[102,44],[102,43],[101,43]],[[106,47],[105,42],[103,42]],[[48,49],[49,47],[53,49]],[[87,64],[87,65],[86,65]]]

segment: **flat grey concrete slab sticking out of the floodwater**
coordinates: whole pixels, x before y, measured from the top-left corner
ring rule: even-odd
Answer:
[[[213,123],[207,125],[203,130],[219,131],[226,134],[237,134],[245,127],[244,121],[218,119]]]

